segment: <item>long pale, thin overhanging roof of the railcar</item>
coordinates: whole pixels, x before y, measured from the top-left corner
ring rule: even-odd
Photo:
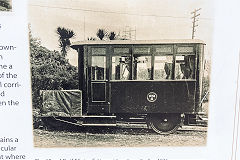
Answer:
[[[205,44],[199,39],[161,39],[161,40],[107,40],[107,41],[77,41],[72,43],[71,47],[76,48],[82,45],[126,45],[126,44]]]

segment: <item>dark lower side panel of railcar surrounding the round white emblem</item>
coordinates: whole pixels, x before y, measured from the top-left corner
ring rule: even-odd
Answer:
[[[110,82],[112,113],[193,113],[194,81]],[[157,100],[149,102],[147,94],[155,92]]]

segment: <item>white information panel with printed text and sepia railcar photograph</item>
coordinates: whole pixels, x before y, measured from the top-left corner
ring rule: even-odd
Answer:
[[[237,0],[0,0],[0,160],[238,160],[238,6]],[[205,55],[201,57],[197,53],[203,50],[196,44],[203,43]],[[77,48],[80,44],[85,47]],[[95,45],[94,63],[89,58],[93,54],[91,45]],[[161,45],[164,51],[156,52],[156,47],[161,48]],[[139,48],[135,46],[147,51],[137,54]],[[166,46],[171,52],[164,48]],[[98,47],[104,48],[104,53],[98,53]],[[177,51],[183,52],[181,55],[191,52],[191,55],[188,53],[177,59]],[[81,56],[83,53],[85,55]],[[155,54],[172,57],[168,61],[161,57],[155,59]],[[104,62],[96,58],[101,56],[106,56]],[[138,56],[144,60],[139,60]],[[103,65],[94,66],[95,63],[104,64],[104,68]],[[146,65],[149,66],[146,68]],[[186,78],[187,72],[197,69],[198,65],[200,70],[203,69],[203,78]],[[185,78],[175,77],[177,74],[172,76],[174,67],[178,67],[179,76]],[[167,69],[170,78],[164,77]],[[200,74],[198,71],[191,73]],[[134,74],[142,74],[148,80],[134,80]],[[163,78],[154,80],[154,74]],[[94,83],[105,84],[106,101],[91,102],[90,75],[97,77]],[[101,79],[103,75],[105,77]],[[114,76],[126,78],[112,80]],[[85,80],[82,82],[79,78]],[[154,90],[158,88],[156,86],[142,93],[148,88],[144,88],[143,82],[151,84],[150,87],[164,83],[168,90],[159,94],[159,90]],[[197,111],[197,116],[195,112],[191,114],[199,123],[183,124],[184,117],[185,120],[191,118],[188,117],[190,112],[180,113],[179,105],[176,105],[171,116],[167,114],[169,111],[157,114],[163,118],[156,125],[152,118],[156,116],[149,114],[149,107],[161,108],[158,102],[167,104],[162,98],[175,84],[184,84],[187,89],[181,94],[174,89],[172,95],[178,96],[172,99],[177,101],[182,95],[192,97],[191,84],[196,84],[197,90],[198,82],[203,82],[199,100],[202,108]],[[134,83],[136,87],[141,84],[144,89],[138,91],[139,97],[154,93],[148,95],[148,99],[145,96],[144,104],[130,106],[145,111],[138,117],[128,118],[137,119],[138,123],[116,118],[120,114],[114,114],[117,109],[111,108],[111,93],[116,89],[114,85],[120,83],[121,89],[125,87],[122,94],[128,95],[124,100],[133,104],[142,99],[132,100],[128,94],[132,90],[125,84]],[[50,91],[42,96],[44,90]],[[70,91],[63,94],[62,90]],[[98,93],[101,89],[94,90],[96,99],[103,96]],[[119,99],[122,100],[121,96]],[[119,106],[127,104],[125,101],[118,103]],[[83,108],[78,109],[73,104]],[[122,112],[129,108],[126,106],[125,109]],[[75,114],[75,111],[82,113]],[[134,113],[138,113],[137,109]],[[178,113],[182,121],[177,124],[181,127],[175,133],[162,135],[149,128],[169,129],[167,127],[172,125],[169,117]],[[139,119],[147,123],[139,122]]]

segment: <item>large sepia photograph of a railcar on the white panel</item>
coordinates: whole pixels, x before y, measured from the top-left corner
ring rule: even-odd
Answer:
[[[213,3],[29,0],[34,146],[206,146]]]

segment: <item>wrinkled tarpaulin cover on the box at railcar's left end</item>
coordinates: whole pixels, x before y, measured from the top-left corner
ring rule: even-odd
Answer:
[[[80,90],[42,90],[42,116],[82,116]]]

